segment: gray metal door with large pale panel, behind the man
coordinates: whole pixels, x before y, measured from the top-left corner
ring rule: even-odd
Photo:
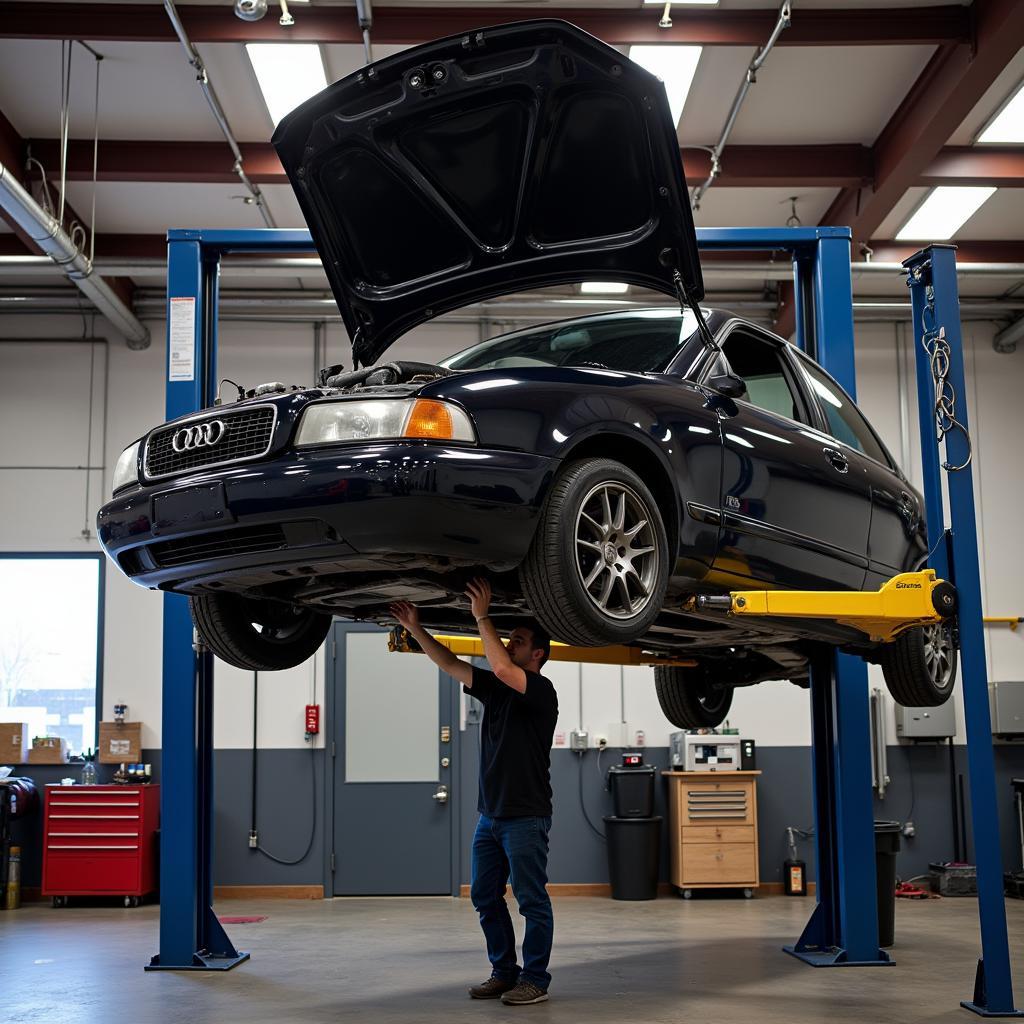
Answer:
[[[334,894],[450,895],[459,692],[375,627],[334,627]]]

